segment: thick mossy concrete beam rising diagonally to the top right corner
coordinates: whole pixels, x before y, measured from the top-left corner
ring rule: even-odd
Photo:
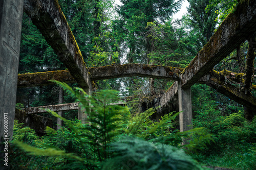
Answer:
[[[240,1],[237,9],[221,23],[216,33],[184,69],[182,88],[189,88],[256,32],[256,1]]]

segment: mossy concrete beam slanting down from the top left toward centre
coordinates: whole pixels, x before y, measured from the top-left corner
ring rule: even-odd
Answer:
[[[60,61],[83,89],[91,87],[86,63],[84,63],[68,22],[57,0],[25,0],[24,10],[46,41],[54,49]]]

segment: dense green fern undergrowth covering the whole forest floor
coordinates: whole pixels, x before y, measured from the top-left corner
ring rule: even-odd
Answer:
[[[67,120],[59,130],[46,128],[38,137],[34,130],[15,122],[10,145],[11,169],[208,169],[202,165],[255,169],[256,119],[248,123],[242,112],[221,116],[201,112],[194,129],[173,130],[179,113],[164,115],[160,123],[148,109],[133,116],[116,103],[118,92],[103,90],[93,95],[56,82],[80,101],[88,123]],[[190,138],[189,144],[181,141]]]

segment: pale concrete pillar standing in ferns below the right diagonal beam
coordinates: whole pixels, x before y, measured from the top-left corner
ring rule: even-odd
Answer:
[[[180,81],[178,82],[178,96],[179,96],[179,111],[180,113],[180,132],[190,130],[192,127],[192,103],[190,88],[181,88]],[[182,144],[187,144],[184,139]]]

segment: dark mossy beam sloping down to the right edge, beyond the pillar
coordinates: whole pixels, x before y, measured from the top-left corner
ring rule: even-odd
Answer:
[[[249,93],[244,94],[244,91],[226,83],[225,79],[221,79],[220,76],[219,72],[212,70],[211,77],[208,82],[205,82],[205,84],[226,95],[231,100],[256,111],[256,98],[254,98],[254,96]]]

